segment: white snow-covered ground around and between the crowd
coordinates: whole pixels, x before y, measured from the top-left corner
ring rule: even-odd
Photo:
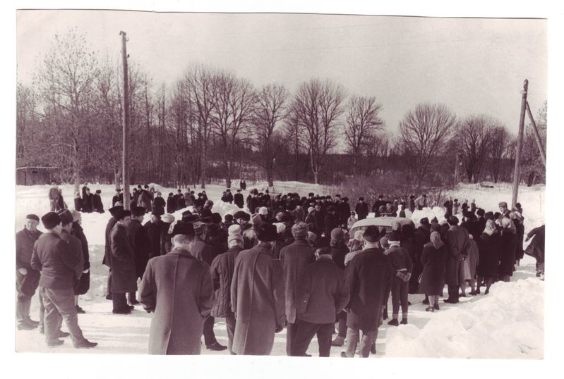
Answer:
[[[114,187],[112,185],[89,185],[90,189],[102,190],[104,209],[111,205]],[[266,188],[266,183],[248,185],[250,190]],[[66,203],[72,207],[73,187],[61,186]],[[275,183],[276,192],[325,193],[318,185],[299,182]],[[49,211],[48,185],[18,186],[16,188],[16,229],[23,227],[28,213],[38,216]],[[176,189],[158,187],[166,199]],[[236,207],[219,201],[224,188],[219,185],[206,187],[208,197],[215,202],[213,211],[222,214],[234,213]],[[198,192],[199,189],[196,189]],[[498,209],[499,201],[511,199],[510,185],[496,185],[482,188],[476,185],[460,185],[452,193],[458,199],[476,199],[476,204],[486,210]],[[245,193],[246,196],[246,193]],[[525,231],[544,223],[544,186],[521,187],[520,202],[524,208]],[[181,211],[174,213],[180,216]],[[437,215],[438,209],[416,211],[412,218],[417,222],[421,217]],[[80,305],[87,313],[79,315],[79,324],[85,337],[98,342],[95,349],[75,350],[70,341],[55,349],[47,349],[43,336],[35,331],[16,332],[18,352],[88,352],[145,354],[148,347],[150,315],[140,306],[131,315],[112,314],[112,303],[104,298],[107,268],[102,266],[104,255],[104,229],[110,215],[106,213],[83,213],[83,227],[90,246],[91,276],[90,291],[80,297]],[[432,216],[431,216],[432,217]],[[146,218],[147,219],[147,218]],[[41,229],[41,227],[40,227]],[[544,356],[544,281],[534,276],[534,259],[529,256],[517,268],[512,282],[498,282],[490,294],[462,298],[460,304],[440,302],[440,311],[428,313],[421,304],[422,295],[409,295],[409,324],[399,328],[380,328],[378,335],[378,356],[419,356],[457,358],[528,358],[541,359]],[[32,318],[37,319],[37,295],[32,300]],[[391,304],[389,304],[391,310]],[[65,327],[64,327],[65,328]],[[223,319],[215,324],[217,340],[227,344],[227,333]],[[278,333],[272,355],[285,355],[285,330]],[[339,356],[341,348],[333,347],[331,356]],[[316,356],[318,347],[313,340],[309,354]],[[224,355],[227,352],[210,352],[203,347],[202,354]]]

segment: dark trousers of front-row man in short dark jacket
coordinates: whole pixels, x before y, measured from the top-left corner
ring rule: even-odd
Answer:
[[[334,323],[314,324],[300,320],[292,343],[292,356],[306,356],[307,349],[314,335],[317,335],[319,356],[329,356],[331,352],[331,335]]]

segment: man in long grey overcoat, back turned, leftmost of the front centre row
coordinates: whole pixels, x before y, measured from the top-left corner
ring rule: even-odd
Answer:
[[[151,259],[139,301],[154,313],[149,354],[200,354],[205,318],[213,306],[210,267],[188,251],[190,237],[175,235],[169,254]]]

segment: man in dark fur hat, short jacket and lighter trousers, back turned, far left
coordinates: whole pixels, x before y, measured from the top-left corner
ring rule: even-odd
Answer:
[[[55,347],[64,343],[57,335],[62,316],[74,347],[95,347],[97,343],[86,340],[78,326],[74,302],[73,285],[83,271],[82,254],[72,254],[67,242],[61,239],[63,228],[58,214],[49,212],[41,220],[47,232],[35,242],[31,266],[41,271],[39,285],[45,309],[44,333],[47,346]],[[70,223],[72,224],[72,216]]]

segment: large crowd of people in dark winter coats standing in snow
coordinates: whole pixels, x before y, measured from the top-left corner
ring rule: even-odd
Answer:
[[[106,298],[113,313],[129,314],[137,304],[154,313],[150,354],[200,354],[203,335],[210,350],[268,355],[275,333],[286,328],[289,356],[307,356],[317,336],[320,356],[344,347],[343,357],[366,357],[376,354],[385,320],[408,323],[408,294],[424,294],[429,312],[440,309],[445,285],[443,302],[449,304],[481,294],[481,287],[488,294],[494,282],[510,280],[524,253],[535,257],[537,275],[544,275],[544,225],[525,237],[520,204],[510,210],[501,202],[493,212],[475,201],[449,200],[445,220],[421,218],[415,228],[406,212],[424,209],[425,194],[390,201],[381,195],[371,209],[376,217],[398,217],[392,227],[367,225],[349,235],[368,216],[363,198],[352,211],[339,194],[272,196],[253,189],[244,199],[243,191],[240,183],[236,194],[222,194],[222,201],[240,209],[222,218],[205,191],[178,190],[164,201],[154,187],[139,185],[126,210],[117,190],[105,230]],[[84,194],[91,196],[88,188]],[[176,211],[182,211],[178,219]],[[150,220],[143,224],[146,213]],[[47,345],[57,346],[65,337],[64,319],[75,347],[93,347],[76,318],[90,268],[80,213],[45,214],[43,234],[38,223],[28,215],[16,235],[18,328],[40,325]],[[39,322],[29,316],[37,286]],[[227,347],[215,338],[215,318],[226,321]]]

